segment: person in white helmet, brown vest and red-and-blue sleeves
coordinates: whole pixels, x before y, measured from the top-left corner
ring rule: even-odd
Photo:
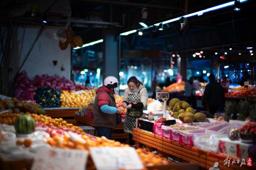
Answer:
[[[96,90],[94,100],[94,124],[98,136],[111,139],[113,128],[116,127],[116,114],[121,113],[121,108],[116,108],[114,88],[118,87],[116,77],[109,76],[104,79],[104,85]]]

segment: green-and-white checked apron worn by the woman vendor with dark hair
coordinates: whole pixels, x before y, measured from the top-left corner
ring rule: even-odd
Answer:
[[[140,94],[128,94],[128,102],[134,104],[140,102]],[[136,119],[143,115],[144,109],[127,109],[124,124],[125,133],[132,134],[132,128],[136,127]]]

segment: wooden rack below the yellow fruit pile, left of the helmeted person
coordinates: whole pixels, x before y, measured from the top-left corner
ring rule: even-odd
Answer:
[[[47,116],[52,118],[62,118],[67,123],[72,123],[76,125],[75,113],[81,108],[44,108]]]

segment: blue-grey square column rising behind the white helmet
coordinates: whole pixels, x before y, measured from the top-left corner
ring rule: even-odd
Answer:
[[[119,79],[119,36],[116,29],[103,32],[103,80],[108,76]]]

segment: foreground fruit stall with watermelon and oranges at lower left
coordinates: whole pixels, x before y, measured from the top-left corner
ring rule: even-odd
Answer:
[[[4,101],[9,102],[7,99]],[[0,121],[0,168],[4,170],[50,168],[54,165],[53,161],[59,161],[57,159],[50,160],[56,154],[64,156],[64,160],[71,160],[73,156],[79,155],[80,159],[86,158],[86,163],[85,160],[83,161],[84,165],[80,162],[82,167],[86,167],[87,170],[96,170],[100,166],[95,163],[97,160],[94,157],[94,150],[97,148],[99,148],[98,151],[102,152],[108,148],[119,151],[128,150],[135,157],[138,157],[136,166],[141,165],[140,169],[143,170],[156,167],[159,169],[163,169],[163,167],[177,168],[178,166],[143,149],[134,149],[128,144],[84,133],[80,127],[69,124],[62,118],[52,119],[50,116],[29,112],[26,114],[2,113],[0,114]],[[81,156],[85,153],[87,156]],[[88,155],[88,153],[91,154]],[[48,162],[49,164],[47,164]],[[70,164],[63,164],[70,166]],[[116,169],[122,169],[122,166],[125,165],[121,164]],[[178,167],[186,168],[189,166],[194,169],[198,168],[196,164],[181,164]]]

